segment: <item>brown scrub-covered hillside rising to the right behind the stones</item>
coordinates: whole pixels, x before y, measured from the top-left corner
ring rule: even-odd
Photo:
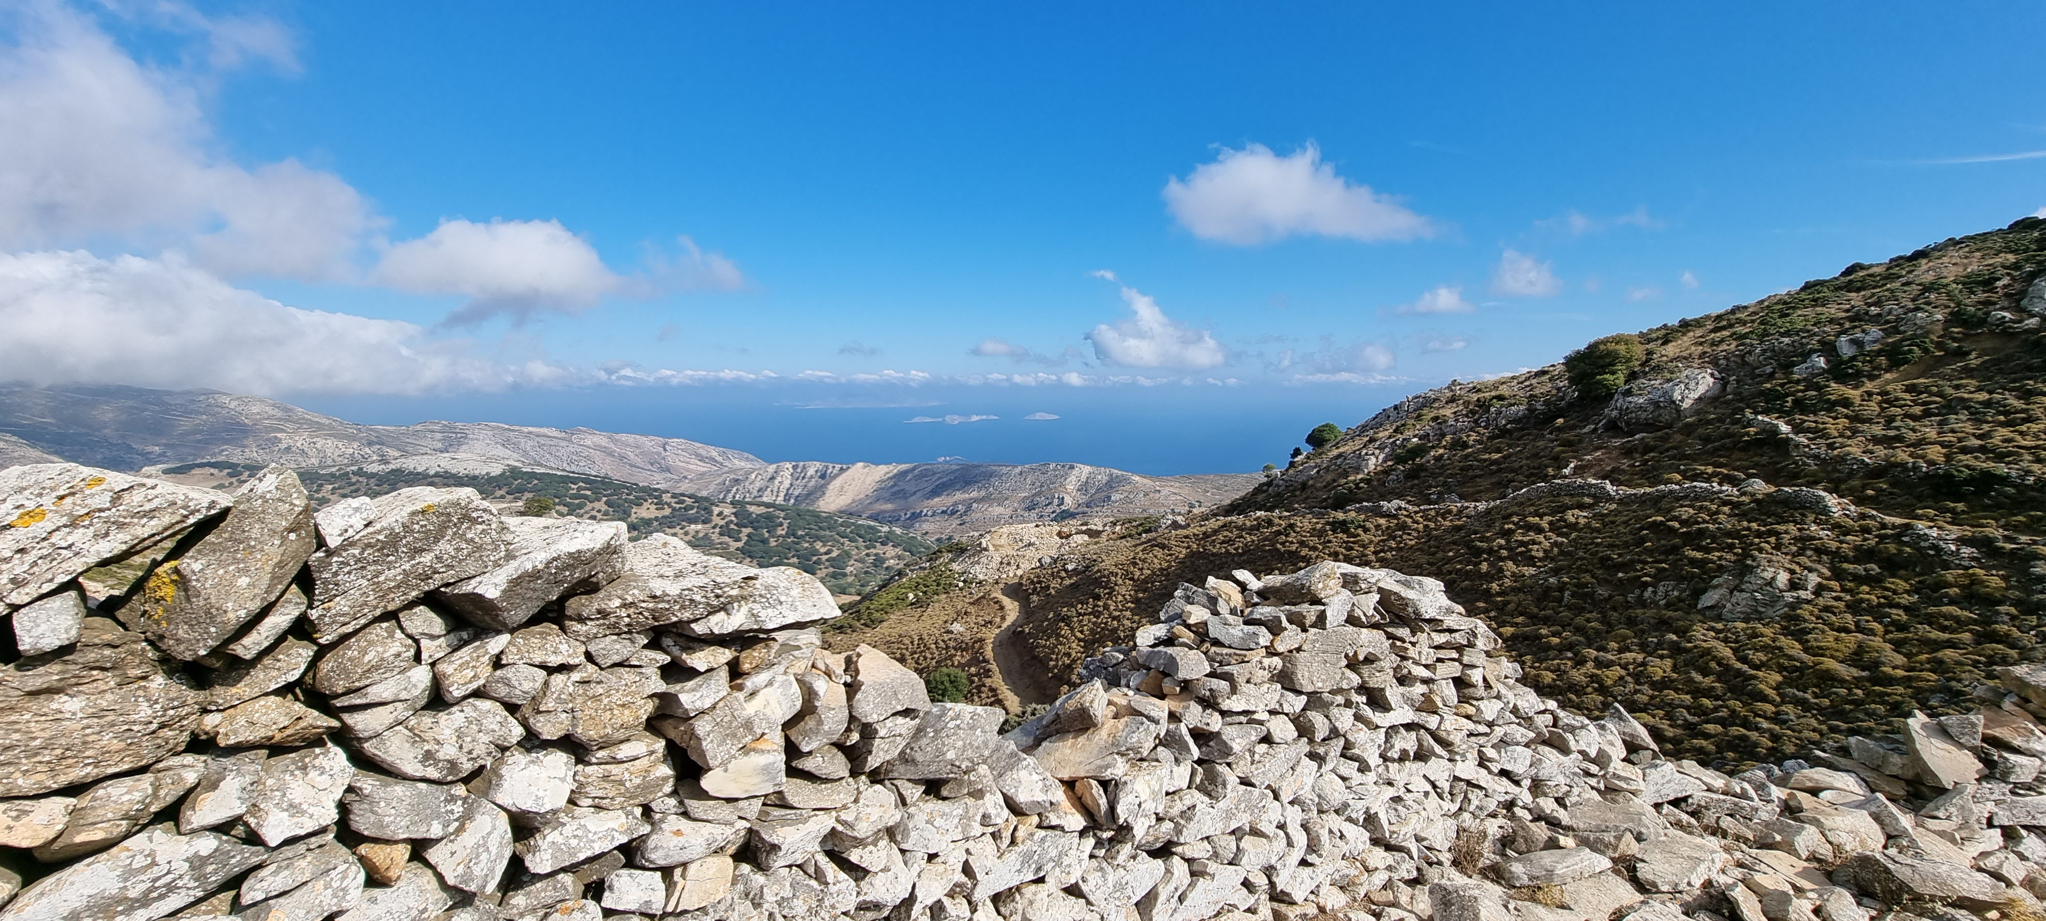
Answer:
[[[2042,270],[2023,219],[1641,332],[1633,362],[1416,395],[1185,530],[1031,569],[1013,632],[1070,682],[1176,581],[1338,559],[1438,575],[1541,694],[1682,757],[1958,712],[2046,661]]]

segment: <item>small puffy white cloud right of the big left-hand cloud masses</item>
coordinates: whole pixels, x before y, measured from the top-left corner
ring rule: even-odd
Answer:
[[[561,221],[440,221],[432,233],[385,252],[370,278],[413,295],[460,295],[450,323],[493,315],[524,321],[538,309],[579,313],[616,291],[618,274]]]

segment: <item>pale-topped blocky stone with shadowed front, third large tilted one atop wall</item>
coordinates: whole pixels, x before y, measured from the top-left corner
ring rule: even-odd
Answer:
[[[479,626],[514,630],[583,581],[608,583],[624,565],[624,522],[507,518],[511,559],[483,575],[434,589],[434,598]]]

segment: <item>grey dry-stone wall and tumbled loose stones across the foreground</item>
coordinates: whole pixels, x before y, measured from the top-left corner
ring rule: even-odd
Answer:
[[[469,489],[0,471],[0,921],[2034,921],[2046,667],[1725,776],[1440,583],[1181,585],[1000,733],[794,569]]]

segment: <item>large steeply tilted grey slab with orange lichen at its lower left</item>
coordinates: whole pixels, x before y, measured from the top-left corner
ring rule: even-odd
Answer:
[[[141,632],[158,649],[196,659],[233,639],[276,602],[313,555],[313,503],[299,475],[270,467],[235,491],[235,508],[176,561],[141,600]]]

